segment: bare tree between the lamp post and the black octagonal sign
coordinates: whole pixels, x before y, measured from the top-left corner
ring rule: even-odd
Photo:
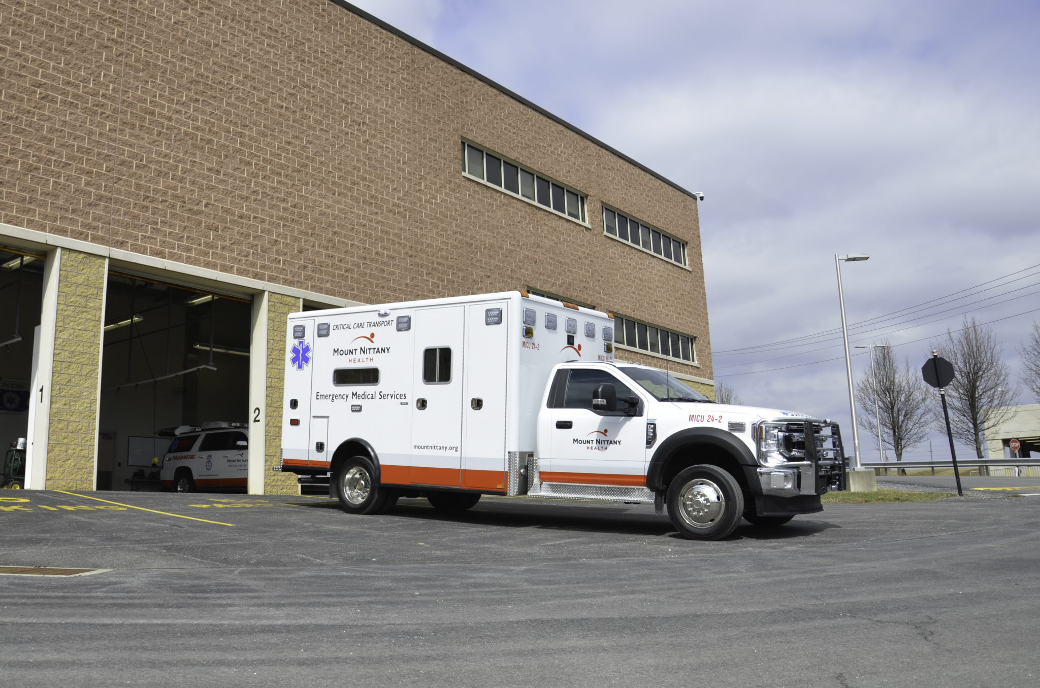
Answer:
[[[874,373],[856,385],[857,401],[865,412],[857,421],[875,436],[881,423],[882,444],[892,450],[896,461],[902,461],[904,452],[928,438],[931,423],[928,388],[909,361],[904,359],[902,366],[896,363],[887,342],[875,348]]]

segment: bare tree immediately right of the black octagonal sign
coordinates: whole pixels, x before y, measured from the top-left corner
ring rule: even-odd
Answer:
[[[1010,406],[1018,391],[1011,389],[1008,366],[993,330],[980,325],[973,316],[964,316],[963,324],[959,332],[946,330],[945,339],[931,346],[954,365],[956,377],[946,388],[951,431],[983,458],[983,435],[1011,418],[1014,412]],[[935,412],[934,418],[937,429],[945,432],[941,412]]]

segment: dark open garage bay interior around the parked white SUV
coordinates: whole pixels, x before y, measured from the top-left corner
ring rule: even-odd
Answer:
[[[244,427],[251,316],[244,299],[109,272],[98,489],[162,488],[163,454],[178,428]],[[245,489],[244,480],[192,479]]]

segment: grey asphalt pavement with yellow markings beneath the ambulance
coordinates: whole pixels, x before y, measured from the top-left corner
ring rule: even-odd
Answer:
[[[0,564],[107,570],[0,576],[4,685],[1040,683],[1040,497],[830,505],[716,543],[645,505],[526,498],[0,507]]]

